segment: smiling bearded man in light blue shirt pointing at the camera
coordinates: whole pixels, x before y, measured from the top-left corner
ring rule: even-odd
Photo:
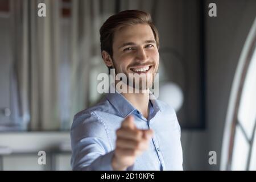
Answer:
[[[180,126],[171,106],[151,100],[149,88],[159,65],[159,37],[150,14],[128,10],[102,25],[104,63],[123,73],[128,88],[146,92],[106,94],[74,117],[71,129],[74,170],[182,170]],[[146,77],[130,84],[129,75]],[[133,78],[132,78],[133,79]],[[141,84],[146,81],[146,87]],[[115,81],[116,86],[118,81]],[[139,86],[138,86],[139,85]],[[134,91],[133,90],[133,91]]]

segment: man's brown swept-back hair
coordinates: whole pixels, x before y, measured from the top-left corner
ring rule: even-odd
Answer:
[[[119,28],[139,23],[145,23],[151,27],[155,36],[156,46],[159,48],[158,30],[152,23],[150,14],[139,10],[126,10],[110,16],[104,24],[102,24],[100,28],[101,56],[102,51],[108,52],[111,57],[113,56],[113,36],[115,31],[118,31]],[[109,72],[110,68],[111,67],[109,67]]]

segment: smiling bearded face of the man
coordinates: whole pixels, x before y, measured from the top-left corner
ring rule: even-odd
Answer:
[[[125,73],[127,78],[129,73],[144,74],[146,80],[141,81],[150,83],[147,88],[151,87],[154,73],[158,71],[159,52],[153,31],[148,24],[122,27],[115,32],[112,57],[116,74]]]

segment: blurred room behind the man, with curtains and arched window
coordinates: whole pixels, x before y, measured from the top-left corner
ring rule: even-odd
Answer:
[[[158,28],[159,99],[176,110],[183,168],[256,169],[255,0],[0,0],[1,170],[71,169],[73,116],[108,73],[99,29],[129,9]]]

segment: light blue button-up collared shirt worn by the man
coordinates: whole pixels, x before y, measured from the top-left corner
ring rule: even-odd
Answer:
[[[138,129],[152,129],[148,150],[127,170],[183,170],[180,125],[174,109],[150,100],[150,114],[144,118],[122,94],[109,93],[96,106],[80,111],[71,128],[73,170],[113,170],[115,131],[127,115],[133,114]]]

